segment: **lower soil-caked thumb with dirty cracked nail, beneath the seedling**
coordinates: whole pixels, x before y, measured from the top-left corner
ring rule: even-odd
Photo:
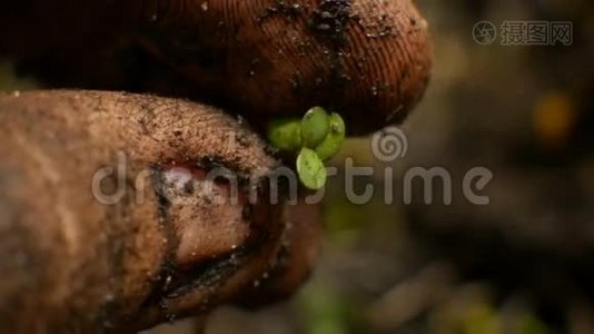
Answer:
[[[116,92],[2,95],[0,141],[2,333],[129,333],[251,289],[270,299],[316,256],[316,207],[271,204],[266,176],[278,163],[218,109]],[[106,204],[122,180],[92,181],[122,167],[121,154],[125,193]],[[169,175],[186,166],[196,191]],[[228,184],[204,177],[215,168],[250,180],[239,193],[257,200],[231,202]],[[208,183],[211,198],[198,191]]]

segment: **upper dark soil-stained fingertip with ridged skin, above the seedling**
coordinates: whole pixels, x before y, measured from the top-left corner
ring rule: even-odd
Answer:
[[[0,31],[10,31],[0,35],[0,52],[56,61],[36,68],[49,84],[208,101],[257,130],[316,105],[340,114],[349,135],[398,124],[423,96],[432,66],[427,22],[410,0],[9,6],[0,14]],[[141,61],[138,50],[148,53]],[[138,65],[147,59],[158,66]]]

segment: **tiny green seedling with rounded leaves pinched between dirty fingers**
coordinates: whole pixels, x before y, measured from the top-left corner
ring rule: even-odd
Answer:
[[[309,109],[301,119],[278,120],[268,127],[268,139],[273,146],[298,153],[296,167],[299,180],[313,190],[326,184],[324,160],[338,154],[345,138],[346,127],[340,115],[328,115],[320,107]]]

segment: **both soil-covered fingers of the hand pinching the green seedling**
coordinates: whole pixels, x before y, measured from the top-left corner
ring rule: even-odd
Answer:
[[[150,61],[122,61],[130,49]],[[12,258],[0,330],[14,333],[128,333],[289,295],[318,250],[317,207],[207,202],[168,173],[266,179],[278,167],[257,135],[268,121],[320,105],[368,134],[406,117],[430,69],[427,24],[408,0],[11,1],[0,55],[49,87],[145,94],[0,99],[0,258]],[[242,144],[226,146],[230,134]],[[132,190],[101,204],[90,184],[120,153]],[[137,203],[130,185],[146,170]]]

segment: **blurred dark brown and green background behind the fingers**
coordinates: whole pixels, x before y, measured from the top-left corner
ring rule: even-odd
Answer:
[[[594,2],[417,4],[432,27],[435,65],[400,127],[407,150],[386,163],[369,138],[349,140],[334,160],[339,175],[327,187],[323,256],[309,282],[257,312],[216,311],[207,333],[594,333]],[[505,21],[571,22],[571,40],[560,30],[554,45],[527,45]],[[0,89],[36,85],[16,77],[0,65]],[[374,167],[355,178],[357,194],[374,185],[365,205],[345,195],[347,158]],[[415,167],[446,170],[452,204],[439,178],[433,203],[423,179],[405,203]],[[464,196],[475,167],[493,176],[475,189],[487,205]],[[192,333],[192,322],[148,333]]]

